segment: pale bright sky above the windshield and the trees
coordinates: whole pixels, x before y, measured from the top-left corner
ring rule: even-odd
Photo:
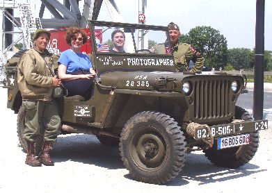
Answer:
[[[115,0],[124,22],[138,23],[138,0]],[[147,0],[146,24],[175,22],[181,33],[195,26],[211,26],[227,40],[227,47],[255,47],[256,0]],[[265,1],[264,49],[272,51],[272,0]],[[98,20],[111,21],[102,4]]]

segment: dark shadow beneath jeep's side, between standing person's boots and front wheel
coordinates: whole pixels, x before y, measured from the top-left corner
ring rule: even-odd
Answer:
[[[82,162],[108,169],[124,168],[118,146],[101,144],[95,135],[59,135],[51,151],[54,162]]]

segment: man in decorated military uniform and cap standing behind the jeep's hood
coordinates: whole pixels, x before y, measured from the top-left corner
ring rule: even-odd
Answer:
[[[177,72],[189,71],[189,63],[192,61],[194,65],[190,69],[190,72],[201,73],[204,65],[204,58],[201,56],[201,54],[198,51],[195,51],[190,44],[178,43],[181,34],[177,24],[170,22],[170,24],[168,24],[168,31]],[[154,52],[170,54],[167,44],[159,44],[154,46]]]

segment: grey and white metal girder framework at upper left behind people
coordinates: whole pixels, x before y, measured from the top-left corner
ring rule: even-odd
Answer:
[[[63,1],[61,3],[60,1]],[[82,15],[79,10],[79,1],[84,1]],[[22,38],[24,38],[24,48],[31,47],[31,33],[36,28],[65,28],[69,26],[79,26],[81,28],[88,27],[88,20],[96,20],[103,0],[40,0],[40,8],[30,8],[37,4],[37,0],[0,0],[0,10],[2,12],[2,38],[1,52],[6,53],[13,48]],[[109,10],[113,22],[123,22],[122,16],[114,0],[104,0]],[[25,6],[28,4],[29,6]],[[13,16],[14,10],[21,5],[20,18]],[[25,6],[22,8],[22,6]],[[32,10],[32,12],[31,12]],[[45,10],[52,15],[51,18],[45,18]],[[35,17],[35,12],[38,15]],[[1,17],[0,17],[1,19]],[[35,19],[40,20],[40,25],[34,25]],[[37,24],[37,22],[35,22]],[[10,30],[11,28],[11,30]],[[14,31],[14,29],[18,31]],[[13,34],[19,34],[17,40],[13,40]],[[8,44],[10,42],[10,44]]]

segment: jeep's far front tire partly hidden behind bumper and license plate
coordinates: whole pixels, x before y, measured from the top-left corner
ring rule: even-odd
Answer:
[[[244,121],[254,120],[246,110],[238,106],[235,107],[235,118],[243,119]],[[250,133],[250,144],[217,150],[215,142],[212,148],[203,152],[208,160],[218,167],[238,168],[246,165],[255,156],[258,146],[259,133],[255,132]]]

